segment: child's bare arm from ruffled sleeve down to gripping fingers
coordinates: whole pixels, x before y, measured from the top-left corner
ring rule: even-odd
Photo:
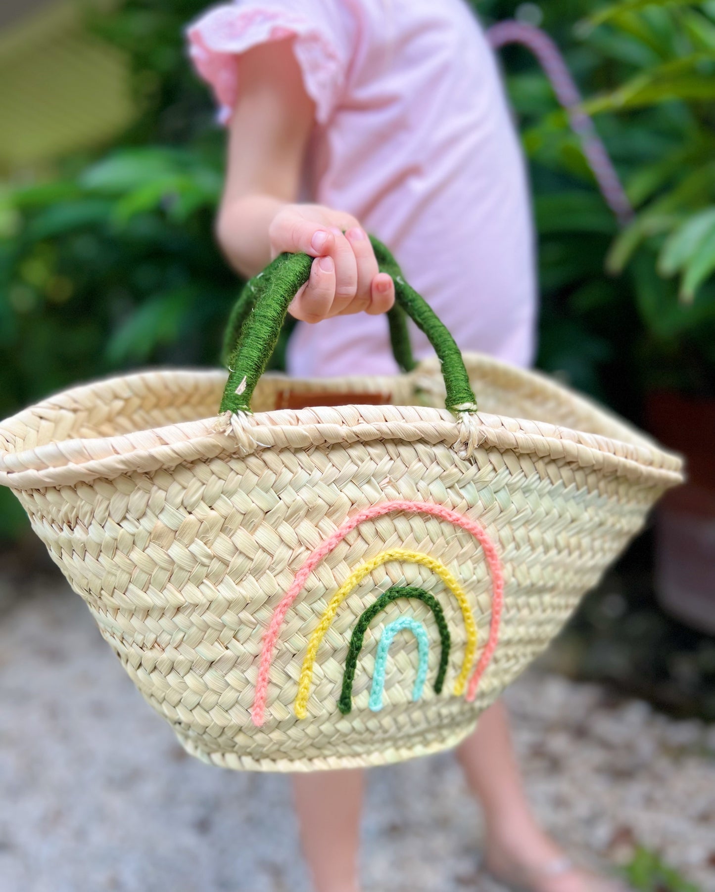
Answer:
[[[229,262],[253,276],[284,251],[315,257],[310,281],[290,308],[305,322],[362,310],[387,312],[395,288],[378,272],[358,221],[319,204],[294,203],[314,105],[290,41],[256,46],[237,64],[241,89],[230,122],[217,225]]]

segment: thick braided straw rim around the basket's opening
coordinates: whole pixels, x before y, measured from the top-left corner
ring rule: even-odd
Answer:
[[[481,358],[477,358],[481,359]],[[500,364],[503,366],[503,364]],[[420,367],[429,368],[429,360]],[[511,367],[504,367],[511,370]],[[418,369],[418,372],[420,372]],[[561,391],[558,384],[534,373],[515,370],[534,378],[536,386]],[[179,422],[130,434],[67,439],[58,436],[43,445],[14,449],[13,443],[30,423],[53,423],[82,404],[107,404],[127,399],[134,392],[186,393],[192,386],[222,381],[220,370],[151,370],[114,376],[65,390],[0,423],[0,484],[16,490],[43,489],[103,477],[113,479],[131,473],[151,473],[196,460],[246,456],[258,450],[306,450],[340,442],[375,440],[445,443],[462,457],[475,449],[495,447],[503,452],[561,459],[603,475],[622,475],[644,483],[672,486],[683,479],[682,460],[641,437],[634,430],[631,442],[600,434],[575,431],[528,419],[478,412],[455,418],[446,409],[424,406],[346,405],[309,409],[273,409],[255,415],[209,417]],[[331,379],[349,381],[351,379]],[[358,380],[358,379],[354,379]],[[364,382],[368,379],[359,379]],[[373,378],[373,381],[378,379]],[[384,378],[382,380],[385,380]],[[568,389],[565,397],[576,399],[610,423],[610,413],[583,400]],[[123,395],[123,396],[122,396]],[[54,422],[58,426],[58,422]],[[624,425],[624,430],[628,430]]]

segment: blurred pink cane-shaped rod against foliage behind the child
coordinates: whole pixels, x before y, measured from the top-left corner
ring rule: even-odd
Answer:
[[[581,109],[581,95],[558,46],[548,34],[525,21],[500,21],[487,30],[486,37],[495,49],[507,44],[521,44],[536,56],[556,98],[569,113],[571,128],[581,140],[586,161],[594,173],[603,199],[619,223],[625,226],[633,219],[633,208],[611,158],[595,131],[593,120]]]

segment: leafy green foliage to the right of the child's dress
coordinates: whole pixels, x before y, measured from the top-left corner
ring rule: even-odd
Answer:
[[[475,5],[487,22],[516,7]],[[507,48],[536,193],[539,365],[636,421],[653,387],[715,395],[715,4],[540,8],[636,214],[617,231],[544,75]]]

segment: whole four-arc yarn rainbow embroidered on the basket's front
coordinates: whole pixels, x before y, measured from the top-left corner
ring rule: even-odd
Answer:
[[[471,701],[476,697],[479,680],[481,679],[486,670],[486,666],[489,665],[489,662],[494,655],[496,642],[499,636],[499,624],[501,621],[503,608],[503,572],[499,556],[495,549],[495,545],[489,539],[484,529],[481,527],[480,524],[477,523],[477,521],[471,520],[469,517],[458,514],[456,511],[453,511],[450,508],[445,508],[444,505],[436,505],[431,502],[395,500],[383,502],[380,505],[373,505],[370,508],[365,508],[360,513],[346,520],[345,524],[342,524],[342,526],[338,527],[335,533],[332,533],[330,536],[328,536],[328,538],[323,541],[317,549],[314,549],[312,551],[308,558],[306,558],[303,566],[301,566],[301,568],[295,574],[293,584],[283,596],[283,599],[281,599],[279,606],[276,607],[270,619],[270,624],[268,625],[268,628],[266,629],[266,632],[263,636],[261,662],[258,670],[258,678],[256,680],[254,707],[252,710],[252,718],[255,725],[261,726],[264,721],[266,698],[268,695],[270,665],[273,660],[273,653],[275,651],[276,644],[279,640],[280,630],[283,626],[288,610],[290,609],[290,607],[292,607],[300,591],[302,591],[303,586],[308,579],[308,576],[312,573],[315,567],[320,564],[320,561],[323,560],[323,558],[326,558],[328,554],[330,554],[330,552],[335,549],[341,541],[345,539],[345,536],[353,529],[355,529],[356,526],[362,524],[363,521],[372,520],[376,517],[383,516],[395,511],[402,511],[408,514],[428,514],[431,516],[439,517],[442,520],[448,521],[449,523],[452,523],[456,526],[460,526],[461,529],[466,530],[468,533],[471,533],[471,535],[474,536],[474,538],[481,545],[486,559],[486,564],[489,569],[489,574],[491,575],[492,579],[492,618],[489,626],[489,635],[486,641],[486,646],[477,661],[477,665],[470,677],[470,672],[472,671],[471,667],[477,656],[477,626],[474,622],[474,616],[471,612],[469,600],[466,593],[462,589],[460,582],[443,564],[436,560],[436,558],[431,558],[428,555],[420,554],[419,552],[409,551],[406,549],[388,549],[387,551],[383,551],[381,554],[377,555],[375,558],[371,558],[369,561],[365,561],[361,566],[353,570],[353,573],[348,576],[345,582],[340,586],[340,588],[330,599],[328,607],[326,607],[323,615],[320,617],[320,623],[316,627],[315,631],[312,633],[311,640],[308,642],[308,648],[303,659],[303,667],[301,669],[300,680],[298,682],[298,693],[295,698],[295,714],[298,716],[298,718],[304,718],[307,715],[308,699],[310,697],[310,689],[312,683],[312,671],[315,664],[315,659],[318,654],[318,648],[320,648],[320,642],[323,639],[325,633],[328,631],[328,628],[335,618],[335,615],[337,614],[338,607],[340,607],[340,605],[350,594],[350,592],[353,591],[354,587],[362,582],[365,576],[370,574],[372,570],[376,569],[378,566],[386,564],[388,561],[403,561],[428,567],[429,570],[440,577],[442,582],[444,582],[445,584],[445,589],[449,591],[459,603],[467,636],[467,645],[465,647],[461,671],[454,684],[454,693],[457,696],[461,696],[466,688],[466,696],[468,700]],[[390,591],[385,592],[385,594],[382,595],[381,598],[386,598]],[[427,592],[424,592],[424,594],[427,594]],[[409,596],[395,595],[395,597]],[[376,601],[376,604],[378,604],[379,601],[380,599]],[[372,610],[373,607],[375,607],[375,605],[369,607],[368,611]],[[381,609],[381,607],[378,608],[375,615],[377,615],[379,609]],[[366,611],[366,613],[368,611]],[[433,613],[434,612],[435,611],[433,610]],[[360,620],[358,621],[358,626],[356,627],[355,632],[358,632],[358,629],[362,624],[364,615],[365,614],[363,613]],[[442,615],[442,618],[444,620],[444,615]],[[370,620],[368,620],[367,624],[369,623]],[[367,629],[367,624],[364,624],[365,629]],[[439,627],[438,621],[437,625]],[[404,625],[403,627],[407,628],[407,625]],[[412,625],[410,627],[412,628]],[[387,628],[390,627],[388,626]],[[424,631],[424,627],[422,626],[421,628],[422,631]],[[387,651],[389,650],[389,645],[392,642],[392,639],[397,631],[399,630],[395,630],[395,632],[392,632],[391,636],[387,638],[382,662],[382,682],[380,682],[378,679],[376,686],[376,680],[375,678],[373,678],[373,686],[372,690],[370,691],[371,703],[377,704],[378,702],[382,702],[381,684],[384,684]],[[412,628],[412,631],[414,632],[414,628]],[[414,633],[418,637],[418,645],[420,647],[420,633]],[[386,634],[387,629],[383,632],[383,638],[386,636]],[[362,636],[364,636],[364,630],[362,632]],[[445,648],[445,635],[441,628],[440,637],[442,640],[442,657],[440,658],[441,666],[442,663],[445,661],[445,649],[447,654],[446,658],[448,659],[449,656],[449,647],[447,646],[447,648]],[[354,632],[353,640],[355,641],[355,644],[357,644],[357,640],[354,639]],[[343,691],[340,698],[340,708],[341,711],[344,713],[349,712],[349,701],[352,697],[352,684],[355,671],[353,665],[351,673],[351,655],[353,654],[353,640],[351,640],[351,649],[348,655],[348,665],[346,665],[345,668]],[[448,634],[446,640],[447,642],[449,640]],[[360,640],[360,646],[357,648],[357,653],[354,655],[355,663],[360,652],[360,647],[362,647],[362,638]],[[378,657],[379,654],[380,649],[378,646]],[[420,670],[422,667],[422,663],[423,659],[420,653]],[[418,671],[418,681],[420,681],[420,670]],[[425,673],[427,672],[426,657],[424,657],[424,671]],[[376,675],[377,672],[378,663],[376,662]],[[440,675],[438,675],[437,681],[439,682],[441,690],[442,683],[444,682],[444,673],[442,673],[441,677]],[[420,685],[420,694],[423,685],[424,680],[421,682]],[[415,693],[417,693],[417,691],[418,687],[417,683],[415,683],[413,696]]]

